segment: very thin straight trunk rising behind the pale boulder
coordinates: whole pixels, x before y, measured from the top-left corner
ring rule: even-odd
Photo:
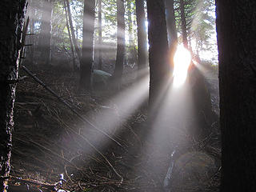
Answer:
[[[102,0],[98,0],[98,69],[102,70]]]

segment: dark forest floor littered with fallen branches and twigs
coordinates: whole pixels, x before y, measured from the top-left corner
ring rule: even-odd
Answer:
[[[166,134],[166,126],[173,124],[162,120],[153,127],[145,105],[129,102],[132,95],[126,90],[133,90],[136,83],[124,86],[120,93],[106,89],[81,94],[76,74],[54,67],[28,67],[101,131],[78,118],[33,79],[19,82],[12,176],[54,185],[63,174],[58,191],[218,191],[218,122],[210,125],[203,138],[194,138],[180,125],[174,129],[179,134]],[[207,75],[206,85],[218,114],[216,75]],[[17,186],[18,181],[14,182]],[[32,187],[24,191],[50,191],[40,185]]]

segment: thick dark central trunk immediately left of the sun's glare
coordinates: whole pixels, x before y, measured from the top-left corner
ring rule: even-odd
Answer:
[[[166,59],[168,42],[164,2],[163,0],[147,0],[146,2],[150,44],[150,106],[153,106],[170,76],[170,65]]]

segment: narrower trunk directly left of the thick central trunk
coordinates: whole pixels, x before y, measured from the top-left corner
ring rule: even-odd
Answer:
[[[144,0],[135,0],[136,18],[138,27],[138,70],[146,67],[147,60],[147,40],[146,40],[146,23]]]

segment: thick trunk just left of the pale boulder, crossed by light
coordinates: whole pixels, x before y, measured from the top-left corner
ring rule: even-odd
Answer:
[[[94,54],[95,0],[85,0],[82,26],[82,62],[80,63],[80,87],[91,89],[91,72]]]

